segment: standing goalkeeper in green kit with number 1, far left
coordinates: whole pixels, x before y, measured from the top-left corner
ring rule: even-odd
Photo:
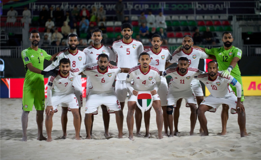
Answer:
[[[43,75],[56,75],[56,70],[49,72],[43,71],[44,60],[52,61],[57,54],[51,56],[44,50],[38,48],[40,35],[37,30],[32,30],[30,33],[31,47],[22,51],[22,58],[26,69],[26,77],[23,87],[23,113],[22,113],[22,128],[23,138],[22,141],[27,141],[27,126],[28,115],[33,110],[33,105],[37,111],[36,122],[38,126],[37,140],[46,140],[43,136],[43,121],[44,121],[44,107],[45,107],[45,94],[44,94],[44,76]]]

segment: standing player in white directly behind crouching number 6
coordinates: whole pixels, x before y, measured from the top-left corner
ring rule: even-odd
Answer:
[[[100,44],[102,40],[102,31],[99,29],[94,29],[91,32],[91,39],[93,41],[93,45],[85,48],[83,52],[86,55],[86,64],[93,63],[98,61],[98,55],[100,54],[106,54],[109,57],[109,60],[116,62],[116,56],[114,52],[106,46],[103,46]],[[87,76],[87,82],[86,82],[86,98],[89,95],[90,89],[92,89],[90,78]],[[107,112],[107,108],[104,105],[101,105],[102,109],[102,117],[103,117],[103,123],[104,123],[104,135],[105,137],[109,136],[109,119],[110,116]],[[92,121],[93,121],[93,115],[92,115]],[[91,129],[92,131],[92,129]]]

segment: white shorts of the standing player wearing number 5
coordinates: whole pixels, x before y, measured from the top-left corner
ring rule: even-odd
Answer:
[[[119,102],[125,102],[128,94],[128,88],[126,86],[126,81],[116,80],[115,82],[115,92]]]

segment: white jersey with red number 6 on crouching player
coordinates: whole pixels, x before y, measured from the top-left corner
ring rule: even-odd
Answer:
[[[104,93],[108,91],[114,91],[112,84],[116,75],[120,73],[120,71],[120,68],[114,66],[112,69],[107,67],[107,72],[100,73],[99,66],[96,65],[86,68],[86,70],[82,73],[89,76],[92,85],[91,92]]]

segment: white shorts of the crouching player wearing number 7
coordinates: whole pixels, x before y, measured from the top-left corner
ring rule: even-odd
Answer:
[[[52,96],[52,105],[53,110],[55,110],[59,104],[63,104],[63,107],[69,106],[70,108],[79,108],[78,100],[75,96],[75,94],[71,93],[68,95],[62,95],[62,96]],[[66,105],[66,106],[64,106]]]

